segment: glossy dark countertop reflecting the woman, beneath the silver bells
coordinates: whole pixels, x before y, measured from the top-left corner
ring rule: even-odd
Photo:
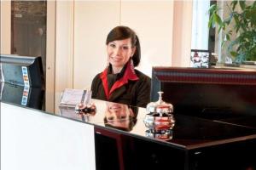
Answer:
[[[3,102],[24,107],[20,102],[22,101],[22,95],[24,97],[23,88],[13,86],[1,87],[4,89],[6,88],[3,90],[3,95],[1,96]],[[34,91],[30,90],[30,92]],[[39,90],[38,92],[40,93],[32,95],[34,96],[34,99],[36,96],[38,96],[38,94],[42,94],[42,91]],[[15,96],[14,93],[17,95]],[[15,98],[9,98],[9,96],[15,96]],[[39,96],[40,98],[38,97],[38,100],[28,98],[26,105],[28,109],[30,109],[29,107],[37,109],[42,105],[44,95]],[[148,127],[146,127],[143,122],[145,116],[147,115],[145,108],[121,105],[123,112],[119,111],[119,118],[112,116],[110,118],[111,120],[109,121],[106,116],[111,115],[111,111],[109,110],[109,105],[111,103],[97,99],[91,99],[91,102],[96,105],[95,115],[77,114],[75,113],[74,107],[61,106],[59,108],[59,112],[55,113],[55,116],[90,123],[96,127],[108,129],[112,132],[124,133],[125,135],[158,142],[160,144],[168,144],[184,150],[196,149],[216,144],[226,144],[245,139],[256,139],[256,116],[234,116],[216,120],[207,119],[205,117],[200,118],[197,116],[185,116],[189,115],[188,113],[174,113],[173,117],[175,120],[175,125],[171,130],[168,131],[168,137],[166,139],[157,139],[155,135],[151,135],[150,137],[148,136]],[[34,103],[37,105],[34,105]],[[120,106],[120,104],[113,103],[111,105]]]

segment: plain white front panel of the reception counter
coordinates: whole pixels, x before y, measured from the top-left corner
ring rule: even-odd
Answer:
[[[1,169],[96,169],[94,127],[1,102]]]

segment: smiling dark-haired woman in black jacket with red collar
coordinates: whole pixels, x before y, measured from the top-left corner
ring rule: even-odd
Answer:
[[[93,79],[92,98],[145,107],[150,101],[151,80],[134,69],[141,59],[136,33],[117,26],[109,32],[106,45],[108,66]]]

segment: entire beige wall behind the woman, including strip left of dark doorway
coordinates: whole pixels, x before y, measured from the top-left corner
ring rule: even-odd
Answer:
[[[7,24],[1,24],[1,32],[4,32],[1,34],[1,53],[8,53],[10,3],[4,2],[1,1],[5,5],[1,8],[1,22]],[[47,68],[50,76],[47,83],[51,83],[49,89],[56,93],[55,99],[50,100],[55,100],[55,111],[61,91],[65,88],[90,88],[92,78],[105,68],[105,41],[114,26],[130,26],[137,32],[142,46],[138,70],[148,76],[154,65],[189,66],[192,1],[48,3],[54,4],[49,7],[52,12],[48,16]]]

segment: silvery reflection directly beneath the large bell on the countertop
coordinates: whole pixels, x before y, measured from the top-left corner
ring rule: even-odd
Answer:
[[[146,130],[146,136],[154,139],[170,140],[172,139],[172,129],[154,131],[152,129]]]

